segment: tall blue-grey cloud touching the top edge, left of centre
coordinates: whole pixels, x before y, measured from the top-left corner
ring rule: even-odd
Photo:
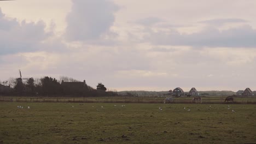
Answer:
[[[66,17],[66,38],[69,41],[95,40],[110,33],[117,5],[107,0],[73,0]]]

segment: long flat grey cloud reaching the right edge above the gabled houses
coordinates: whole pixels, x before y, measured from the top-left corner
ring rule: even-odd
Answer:
[[[150,32],[146,40],[157,45],[185,45],[194,47],[256,47],[256,30],[251,26],[242,26],[219,31],[206,28],[201,32],[180,34],[171,32]]]

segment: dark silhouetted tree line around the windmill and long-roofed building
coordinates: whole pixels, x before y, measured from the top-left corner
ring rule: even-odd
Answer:
[[[61,76],[60,80],[49,76],[40,79],[30,77],[26,80],[10,78],[0,83],[6,86],[0,91],[2,95],[30,97],[103,97],[118,95],[117,92],[107,91],[102,83],[98,83],[95,89],[88,86],[85,81],[80,82],[66,76]]]

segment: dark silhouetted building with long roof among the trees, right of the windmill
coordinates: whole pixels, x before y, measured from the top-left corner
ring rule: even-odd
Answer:
[[[61,81],[61,88],[63,94],[83,94],[85,91],[88,91],[88,87],[84,82],[65,82]]]

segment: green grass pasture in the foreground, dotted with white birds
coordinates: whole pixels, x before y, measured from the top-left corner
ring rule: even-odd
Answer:
[[[255,120],[251,104],[1,102],[0,143],[256,143]]]

